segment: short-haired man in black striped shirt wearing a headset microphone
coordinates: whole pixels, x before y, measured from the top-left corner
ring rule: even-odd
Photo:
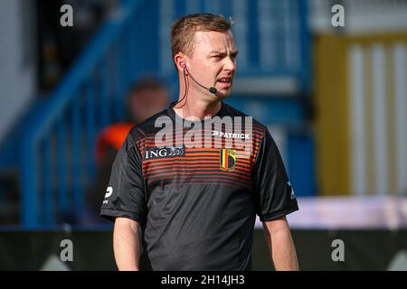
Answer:
[[[222,101],[231,93],[238,54],[230,21],[182,17],[172,26],[171,46],[179,100],[132,128],[101,209],[115,220],[118,269],[250,270],[257,214],[276,269],[297,270],[285,216],[298,205],[276,144],[251,118],[239,130],[247,116]],[[218,126],[223,118],[232,119],[231,132]],[[163,134],[167,120],[175,126]],[[209,134],[201,132],[209,120]]]

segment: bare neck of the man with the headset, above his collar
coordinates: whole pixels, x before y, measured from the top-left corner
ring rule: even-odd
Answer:
[[[185,105],[184,105],[185,104]],[[221,110],[222,103],[220,100],[206,102],[194,98],[186,98],[180,104],[175,105],[175,113],[182,118],[197,117],[203,120],[205,117],[215,116]]]

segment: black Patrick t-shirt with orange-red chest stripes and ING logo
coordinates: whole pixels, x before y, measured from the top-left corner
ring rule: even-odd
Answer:
[[[216,117],[232,119],[232,132],[214,121],[201,133],[205,121],[183,122],[172,107],[131,129],[100,215],[141,224],[141,269],[250,270],[256,214],[298,210],[279,150],[266,126],[229,105]]]

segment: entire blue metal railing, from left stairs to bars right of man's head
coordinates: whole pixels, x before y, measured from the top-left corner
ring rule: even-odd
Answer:
[[[173,88],[178,83],[169,30],[181,14],[232,16],[241,51],[238,77],[289,76],[298,81],[298,93],[308,89],[307,1],[286,1],[122,0],[23,128],[19,157],[24,228],[52,226],[67,214],[80,218],[95,174],[96,134],[123,118],[129,85],[141,73],[157,72]],[[298,103],[289,107],[301,115]]]

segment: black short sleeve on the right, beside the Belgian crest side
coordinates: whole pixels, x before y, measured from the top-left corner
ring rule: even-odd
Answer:
[[[254,164],[254,187],[254,209],[261,221],[298,210],[279,149],[267,128]]]

